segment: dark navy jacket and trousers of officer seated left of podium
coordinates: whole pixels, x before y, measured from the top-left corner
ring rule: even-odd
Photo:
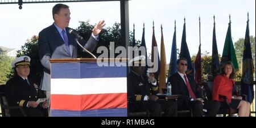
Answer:
[[[5,94],[10,106],[22,106],[27,116],[47,116],[47,109],[43,109],[41,104],[36,108],[27,107],[28,101],[36,101],[45,98],[43,91],[34,87],[34,82],[28,78],[27,82],[21,76],[15,75],[6,82]],[[22,116],[19,110],[11,110],[11,116]]]

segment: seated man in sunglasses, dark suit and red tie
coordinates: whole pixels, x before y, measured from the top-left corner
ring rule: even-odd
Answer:
[[[207,109],[207,116],[215,117],[220,103],[218,101],[205,101],[201,99],[200,91],[197,91],[195,79],[188,78],[187,59],[177,60],[177,72],[169,79],[172,86],[172,95],[180,95],[177,100],[178,110],[192,108],[193,116],[203,116],[203,108]]]

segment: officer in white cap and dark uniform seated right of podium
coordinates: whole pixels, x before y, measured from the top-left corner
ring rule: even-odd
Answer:
[[[156,93],[159,92],[158,84],[153,74],[143,74],[146,63],[145,56],[138,56],[129,63],[133,63],[130,74],[127,76],[127,93],[129,101],[138,101],[138,104],[128,104],[130,112],[140,112],[147,108],[151,116],[177,116],[177,104],[175,101],[158,101]],[[136,65],[137,63],[137,65]]]

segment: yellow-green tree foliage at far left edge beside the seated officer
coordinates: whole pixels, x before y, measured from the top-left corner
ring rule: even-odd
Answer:
[[[0,51],[2,49],[0,48]],[[8,75],[11,72],[11,61],[13,58],[6,56],[4,52],[0,52],[0,85],[7,82]]]

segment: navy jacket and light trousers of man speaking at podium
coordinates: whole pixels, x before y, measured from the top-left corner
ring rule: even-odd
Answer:
[[[39,33],[39,58],[44,66],[44,74],[41,81],[41,88],[45,91],[51,91],[51,76],[50,76],[50,63],[51,58],[77,58],[77,43],[75,36],[68,33],[71,28],[65,28],[68,36],[69,49],[71,54],[68,53],[68,49],[65,47],[64,40],[61,38],[60,33],[54,24],[47,28],[44,28]],[[90,36],[90,39],[86,43],[85,40],[79,40],[80,44],[85,49],[92,51],[96,47],[97,41]],[[79,48],[80,49],[80,48]]]

